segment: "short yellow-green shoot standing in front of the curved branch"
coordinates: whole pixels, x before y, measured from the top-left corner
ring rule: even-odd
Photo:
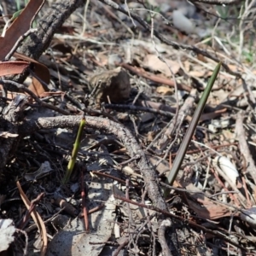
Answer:
[[[70,160],[68,162],[68,165],[67,165],[67,171],[65,173],[65,176],[62,179],[62,184],[66,184],[68,182],[68,180],[69,180],[69,178],[70,178],[70,176],[73,172],[73,166],[76,163],[77,156],[78,156],[78,153],[79,153],[79,148],[80,148],[81,138],[82,138],[82,134],[83,134],[83,130],[84,130],[84,125],[85,125],[85,119],[83,118],[80,122],[80,125],[79,125],[79,131],[78,131],[78,134],[77,134],[77,137],[76,137],[76,141],[73,145],[71,158],[70,158]]]

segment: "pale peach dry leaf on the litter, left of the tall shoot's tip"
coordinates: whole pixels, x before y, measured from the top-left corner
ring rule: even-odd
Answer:
[[[160,73],[165,74],[166,77],[172,77],[172,73],[176,74],[180,66],[176,61],[171,61],[171,60],[165,60],[165,61],[168,65],[166,65],[165,62],[160,61],[157,55],[147,55],[144,58],[143,65],[144,67],[148,67],[154,71],[159,71]],[[168,66],[171,67],[172,73]]]

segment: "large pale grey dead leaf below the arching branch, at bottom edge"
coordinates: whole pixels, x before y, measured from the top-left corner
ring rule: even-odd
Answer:
[[[93,209],[105,202],[105,207],[90,214],[90,233],[84,232],[84,222],[80,218],[73,219],[49,242],[47,256],[101,254],[105,242],[112,235],[115,222],[117,202],[113,198],[112,186],[113,181],[110,179],[94,178],[94,182],[90,183],[87,206]]]

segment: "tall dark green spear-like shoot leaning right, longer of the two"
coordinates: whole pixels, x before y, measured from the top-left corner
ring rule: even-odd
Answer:
[[[218,65],[215,67],[211,78],[209,79],[207,83],[207,88],[204,90],[203,95],[201,96],[201,100],[198,103],[197,108],[195,109],[195,113],[193,116],[193,119],[191,120],[191,123],[189,125],[188,131],[186,132],[185,136],[183,137],[183,142],[181,143],[180,147],[178,148],[177,155],[175,160],[173,161],[172,170],[169,173],[166,183],[172,186],[172,183],[174,182],[175,178],[177,177],[177,172],[179,171],[180,166],[182,165],[184,156],[186,154],[186,151],[189,147],[189,143],[191,140],[191,137],[193,136],[195,132],[196,125],[201,117],[201,113],[203,109],[205,108],[207,98],[212,90],[212,85],[214,84],[219,69],[221,67],[221,62],[218,63]],[[165,189],[165,197],[170,194],[170,189]]]

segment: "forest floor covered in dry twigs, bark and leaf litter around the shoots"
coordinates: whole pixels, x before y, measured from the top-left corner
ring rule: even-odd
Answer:
[[[46,2],[38,20],[50,9]],[[28,255],[38,255],[47,236],[46,255],[168,255],[163,245],[174,232],[178,254],[172,255],[256,254],[251,2],[128,2],[129,16],[91,0],[73,12],[38,60],[50,74],[49,91],[38,97],[55,109],[32,103],[24,111],[26,120],[66,115],[68,125],[45,126],[20,139],[4,170],[0,217],[27,234],[27,241],[16,237],[14,251],[26,247]],[[162,193],[218,61],[223,67],[166,197],[166,216],[148,192],[148,179],[156,177]],[[78,159],[63,185],[84,113]],[[142,170],[141,159],[154,174]],[[44,193],[36,210],[45,230],[32,219],[22,221],[26,206],[17,181],[30,201]],[[171,235],[165,236],[168,225]]]

